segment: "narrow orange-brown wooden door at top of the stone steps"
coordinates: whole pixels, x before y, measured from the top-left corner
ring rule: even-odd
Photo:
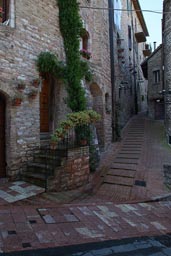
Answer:
[[[49,132],[49,86],[43,81],[40,92],[40,132]]]

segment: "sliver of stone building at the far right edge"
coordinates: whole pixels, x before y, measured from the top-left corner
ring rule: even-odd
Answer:
[[[171,144],[171,2],[163,2],[163,66],[166,135]]]

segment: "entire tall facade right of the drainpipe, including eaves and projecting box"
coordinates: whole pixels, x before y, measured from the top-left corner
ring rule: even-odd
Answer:
[[[147,110],[147,82],[141,62],[145,55],[146,37],[149,35],[139,1],[113,1],[114,8],[114,76],[115,104],[118,129],[129,118]],[[132,11],[131,11],[132,10]]]

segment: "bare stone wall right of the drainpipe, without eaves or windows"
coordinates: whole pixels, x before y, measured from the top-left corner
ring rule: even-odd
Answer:
[[[120,3],[122,9],[127,10],[128,1],[121,0]],[[133,4],[131,4],[131,8],[135,10]],[[135,93],[137,94],[138,112],[147,110],[147,83],[140,66],[144,60],[144,43],[137,43],[135,38],[135,32],[143,31],[139,18],[135,11],[119,11],[119,13],[121,15],[120,27],[115,22],[114,30],[116,38],[114,42],[115,94],[118,106],[118,124],[122,129],[136,112]],[[130,48],[128,26],[131,28],[132,46]],[[142,101],[142,96],[144,96],[144,101]]]

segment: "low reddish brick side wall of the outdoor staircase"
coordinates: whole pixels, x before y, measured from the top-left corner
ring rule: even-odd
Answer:
[[[89,182],[89,147],[69,149],[63,165],[48,179],[48,191],[72,190]]]

